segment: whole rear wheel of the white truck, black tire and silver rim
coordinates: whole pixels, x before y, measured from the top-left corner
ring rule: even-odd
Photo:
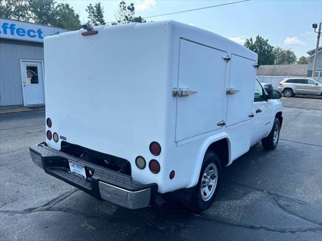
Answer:
[[[203,159],[199,181],[191,189],[189,203],[183,203],[196,212],[207,209],[213,202],[218,191],[221,177],[221,166],[217,154],[208,151]]]

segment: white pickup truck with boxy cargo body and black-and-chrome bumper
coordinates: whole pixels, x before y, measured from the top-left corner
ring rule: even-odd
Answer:
[[[174,21],[46,37],[44,171],[135,209],[172,192],[210,206],[221,168],[262,141],[274,149],[281,93],[256,80],[257,54]]]

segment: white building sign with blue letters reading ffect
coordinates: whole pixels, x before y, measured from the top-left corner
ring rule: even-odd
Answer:
[[[0,38],[43,42],[46,36],[68,31],[57,27],[0,18]]]

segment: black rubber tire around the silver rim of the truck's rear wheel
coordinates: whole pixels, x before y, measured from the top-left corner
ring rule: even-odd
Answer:
[[[217,167],[218,175],[216,176],[217,178],[217,183],[214,189],[214,192],[212,193],[211,197],[209,200],[204,201],[202,196],[201,196],[201,184],[202,184],[202,179],[203,179],[203,174],[206,170],[206,168],[210,165],[214,164]],[[190,198],[189,201],[182,202],[184,206],[187,208],[195,211],[195,212],[200,212],[205,209],[207,209],[211,203],[213,202],[216,193],[218,191],[218,187],[220,184],[220,178],[221,178],[221,165],[220,165],[220,160],[218,155],[213,152],[213,151],[207,151],[205,154],[205,157],[203,159],[203,164],[201,167],[201,171],[199,174],[199,180],[196,186],[190,188]]]

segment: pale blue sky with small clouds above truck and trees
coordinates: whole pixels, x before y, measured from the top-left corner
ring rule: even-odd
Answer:
[[[237,1],[142,0],[125,2],[134,3],[136,16],[148,17]],[[115,10],[120,1],[67,0],[66,2],[80,15],[81,22],[87,21],[86,6],[90,3],[101,2],[104,6],[105,21],[112,22],[115,21]],[[302,55],[307,57],[306,52],[314,49],[316,44],[312,23],[322,22],[322,1],[251,0],[147,20],[169,19],[209,30],[240,44],[246,38],[255,38],[259,34],[269,39],[273,46],[291,48],[297,57]]]

